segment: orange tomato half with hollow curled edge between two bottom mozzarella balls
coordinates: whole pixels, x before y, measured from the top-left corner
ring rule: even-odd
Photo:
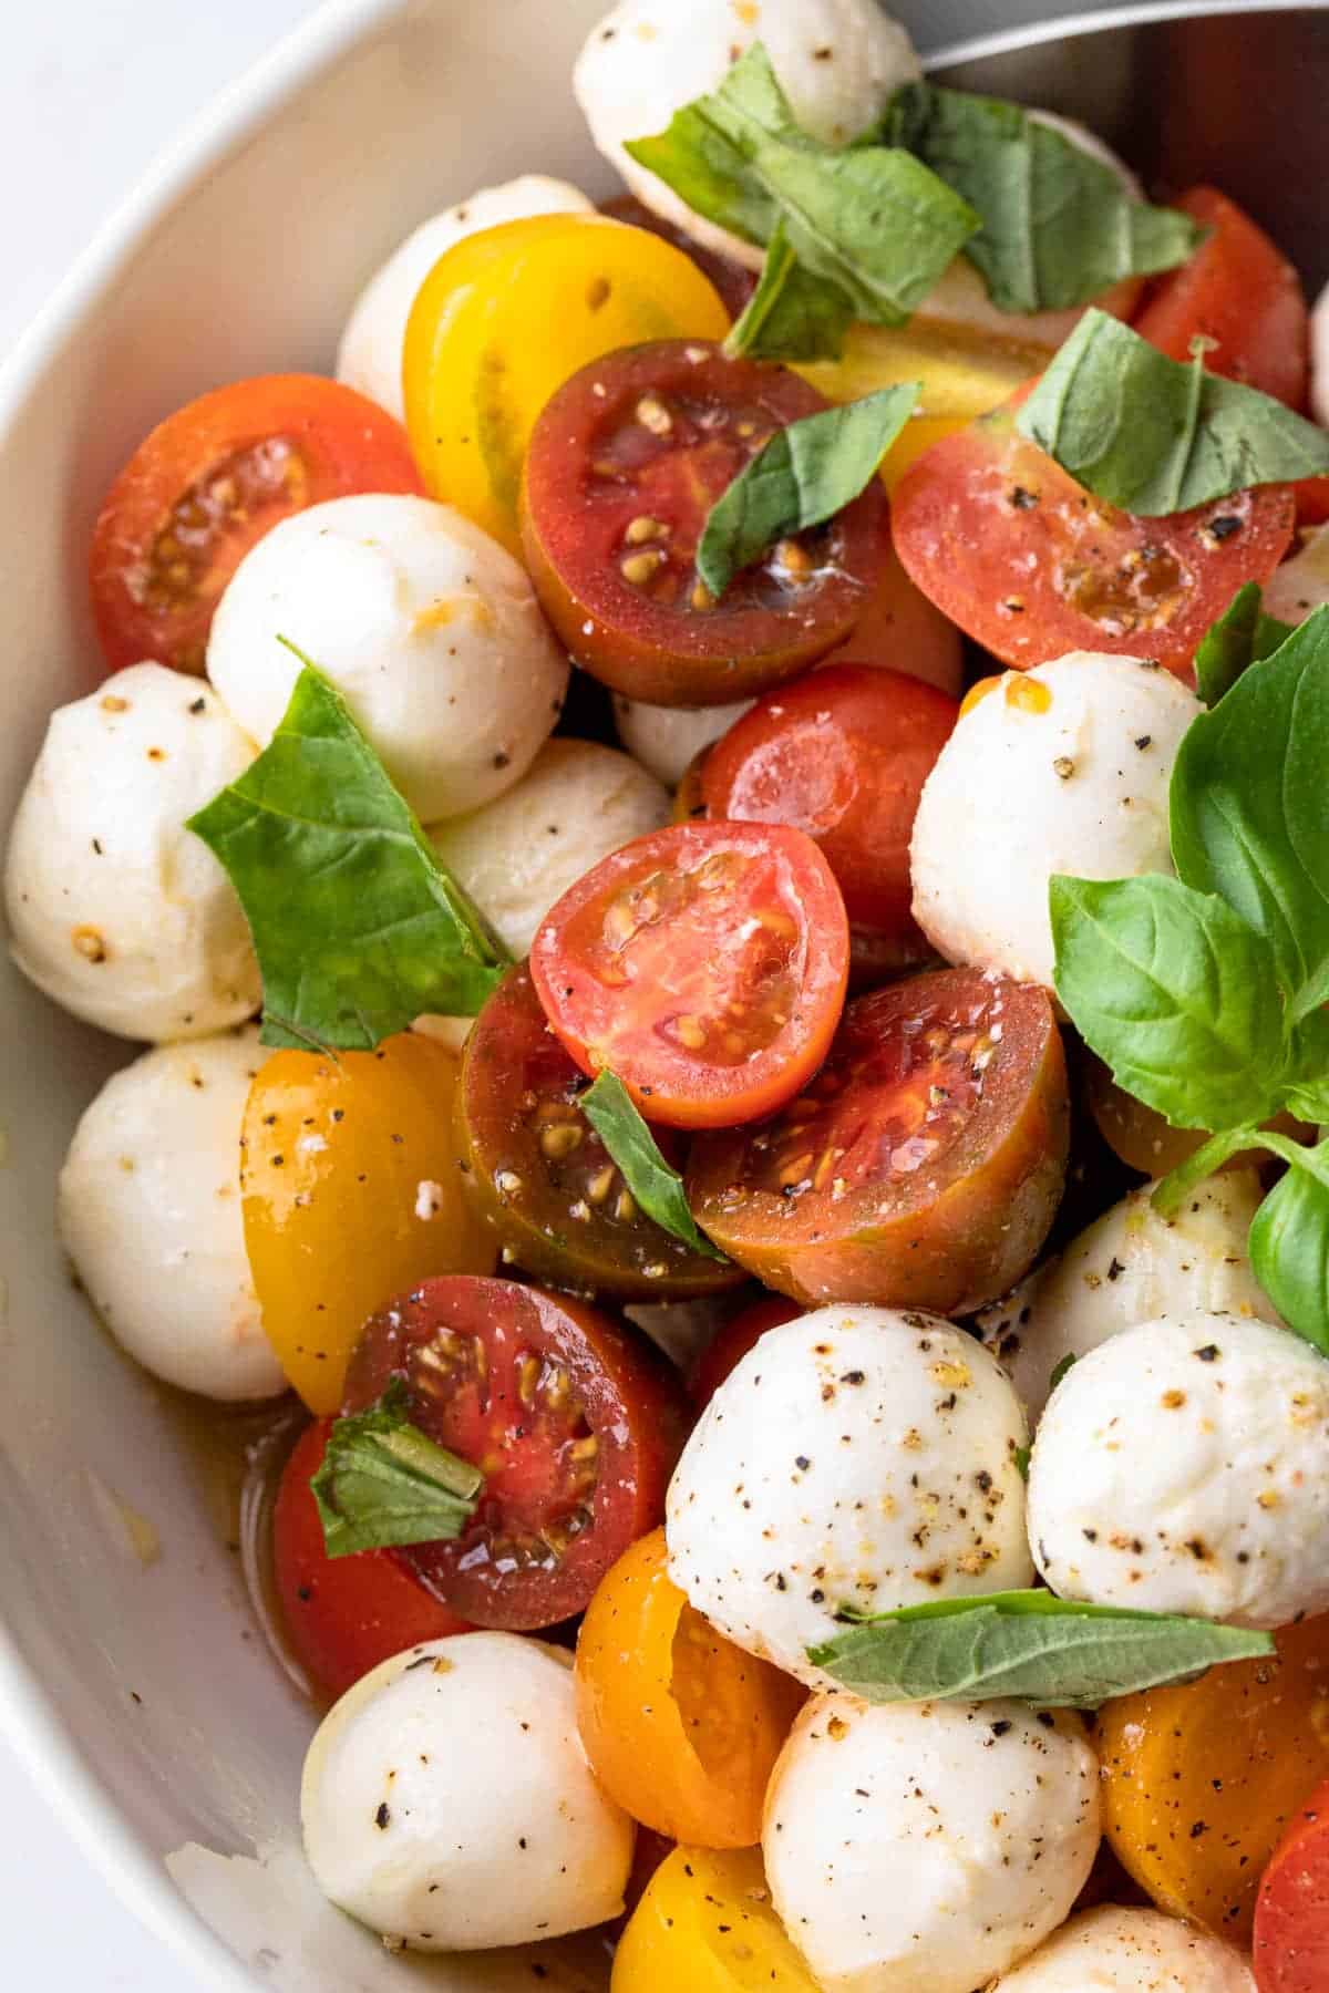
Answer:
[[[721,1638],[665,1568],[664,1531],[602,1578],[576,1650],[592,1772],[634,1820],[697,1848],[753,1848],[803,1688]]]

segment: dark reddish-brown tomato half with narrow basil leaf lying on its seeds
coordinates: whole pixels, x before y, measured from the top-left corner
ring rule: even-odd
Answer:
[[[695,568],[705,518],[739,470],[777,428],[827,407],[795,373],[699,339],[612,353],[552,397],[526,454],[522,546],[578,664],[632,700],[723,706],[843,644],[887,558],[875,478],[719,602]]]

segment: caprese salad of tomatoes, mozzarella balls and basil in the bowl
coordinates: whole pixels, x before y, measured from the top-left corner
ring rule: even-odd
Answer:
[[[62,1240],[307,1411],[389,1947],[1323,1993],[1329,311],[873,0],[574,90],[626,191],[434,215],[106,496],[6,861],[147,1044]]]

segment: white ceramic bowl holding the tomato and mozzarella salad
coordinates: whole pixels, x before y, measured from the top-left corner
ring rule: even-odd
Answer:
[[[161,161],[20,345],[0,381],[0,821],[48,710],[96,674],[84,562],[122,458],[205,387],[327,367],[359,283],[446,201],[526,169],[604,187],[566,86],[600,12],[325,8]],[[927,42],[1048,8],[895,12]],[[1100,84],[1058,72],[1058,108],[1098,108]],[[0,1006],[0,1712],[16,1744],[126,1899],[215,1987],[530,1987],[528,1961],[389,1959],[309,1883],[297,1788],[311,1712],[255,1634],[179,1423],[96,1331],[56,1246],[56,1170],[126,1046],[56,1012],[8,961]],[[157,1531],[153,1563],[133,1553],[133,1515]],[[546,1983],[604,1983],[602,1951],[588,1971]]]

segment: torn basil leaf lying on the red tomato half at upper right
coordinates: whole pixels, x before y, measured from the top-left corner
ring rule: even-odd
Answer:
[[[1329,432],[1241,381],[1086,311],[1016,428],[1108,504],[1158,518],[1329,470]]]

